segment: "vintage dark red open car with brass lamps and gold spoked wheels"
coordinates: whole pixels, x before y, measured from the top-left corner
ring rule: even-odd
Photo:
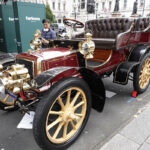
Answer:
[[[84,27],[76,20],[64,23]],[[103,77],[113,74],[123,85],[132,80],[138,94],[149,86],[150,18],[90,20],[84,33],[49,41],[46,49],[39,37],[37,31],[30,43],[36,50],[16,55],[14,64],[1,58],[0,91],[6,97],[0,109],[35,110],[33,133],[42,149],[66,149],[84,129],[91,107],[103,110]]]

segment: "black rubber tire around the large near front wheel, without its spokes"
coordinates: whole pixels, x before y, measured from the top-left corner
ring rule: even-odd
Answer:
[[[79,87],[81,88],[87,98],[87,111],[86,116],[84,118],[83,124],[77,131],[77,133],[69,139],[65,143],[61,144],[54,144],[50,140],[48,140],[46,131],[45,131],[45,122],[47,113],[49,111],[49,108],[57,98],[57,96],[62,93],[64,90],[66,90],[69,87]],[[84,129],[91,110],[91,92],[86,84],[86,82],[83,79],[79,78],[65,78],[59,82],[57,82],[50,90],[45,94],[45,96],[40,100],[36,112],[35,117],[33,121],[33,135],[37,142],[37,144],[43,149],[43,150],[62,150],[69,147],[81,134],[82,130]]]

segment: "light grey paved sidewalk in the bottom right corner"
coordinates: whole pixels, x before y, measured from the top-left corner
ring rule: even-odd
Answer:
[[[150,103],[99,150],[150,150]]]

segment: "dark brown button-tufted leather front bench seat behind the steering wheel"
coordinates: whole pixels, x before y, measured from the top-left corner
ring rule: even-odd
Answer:
[[[106,18],[90,20],[85,24],[85,31],[90,30],[96,49],[116,50],[116,39],[120,33],[130,29],[133,20],[128,18]],[[77,39],[83,39],[84,33],[76,35]]]

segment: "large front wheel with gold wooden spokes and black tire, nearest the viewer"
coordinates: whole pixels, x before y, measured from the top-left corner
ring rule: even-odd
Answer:
[[[45,150],[66,149],[84,129],[90,108],[90,90],[82,79],[56,83],[36,108],[33,133],[38,145]]]

